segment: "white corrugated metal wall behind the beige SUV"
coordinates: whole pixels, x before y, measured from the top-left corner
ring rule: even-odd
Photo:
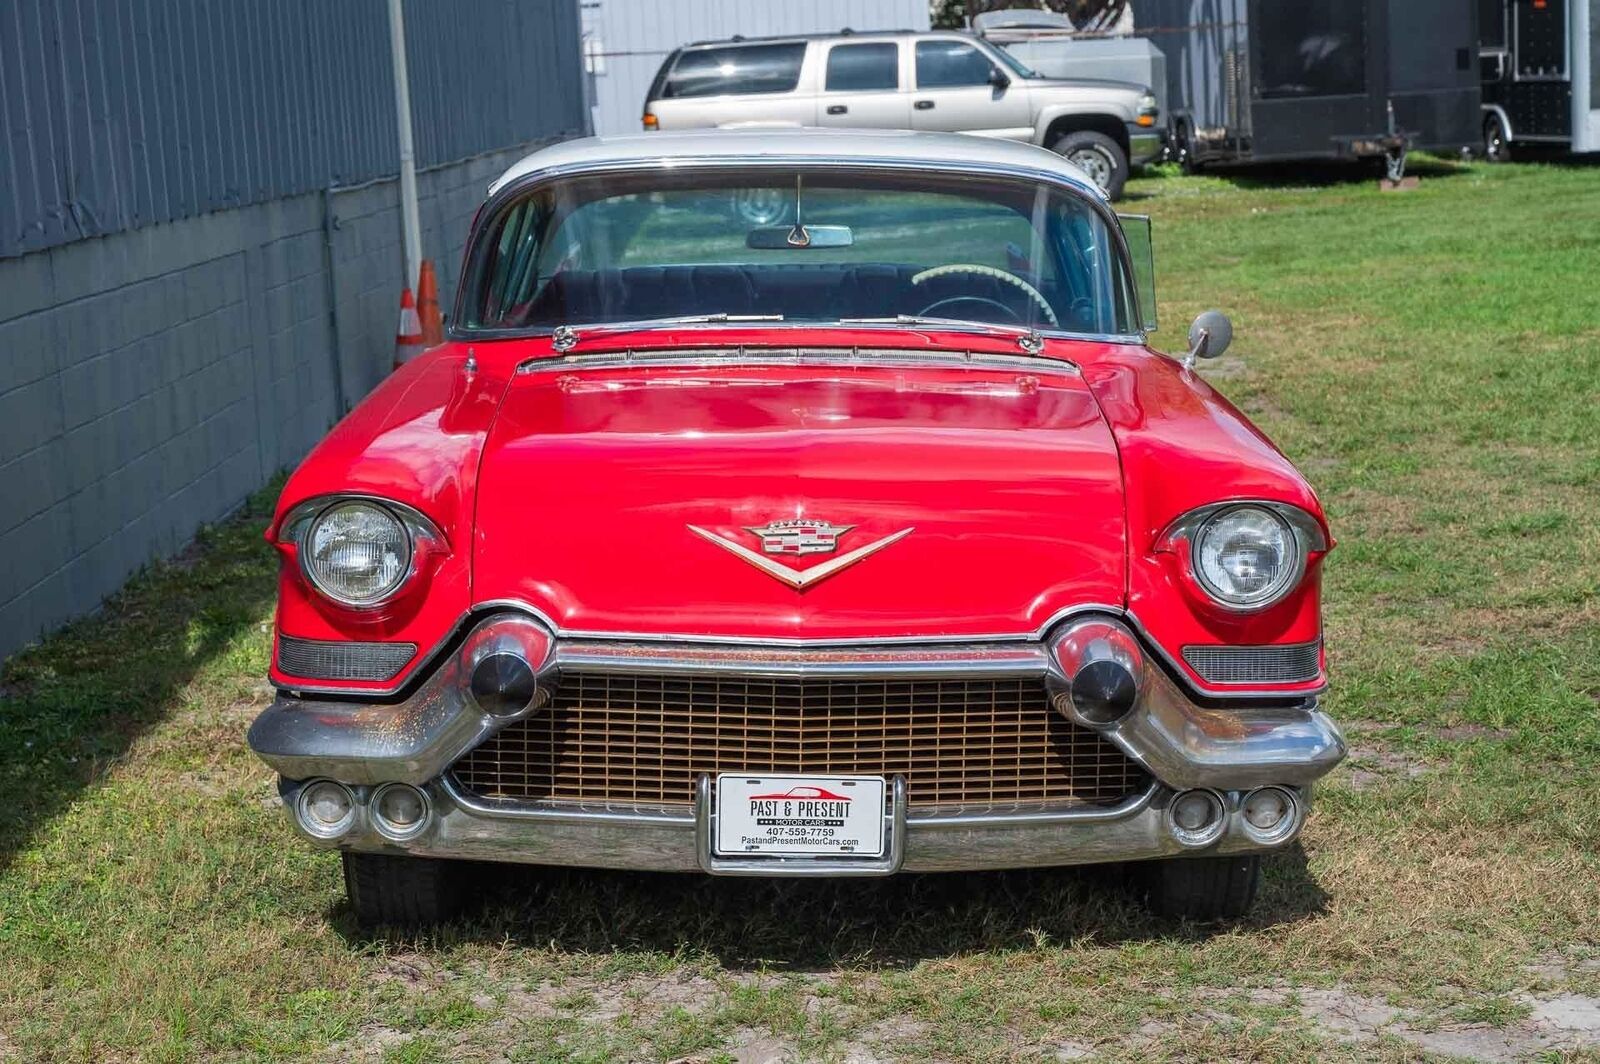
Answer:
[[[638,133],[645,94],[678,45],[741,34],[832,34],[843,27],[928,29],[928,0],[584,0],[584,32],[603,74],[594,77],[595,133]]]

